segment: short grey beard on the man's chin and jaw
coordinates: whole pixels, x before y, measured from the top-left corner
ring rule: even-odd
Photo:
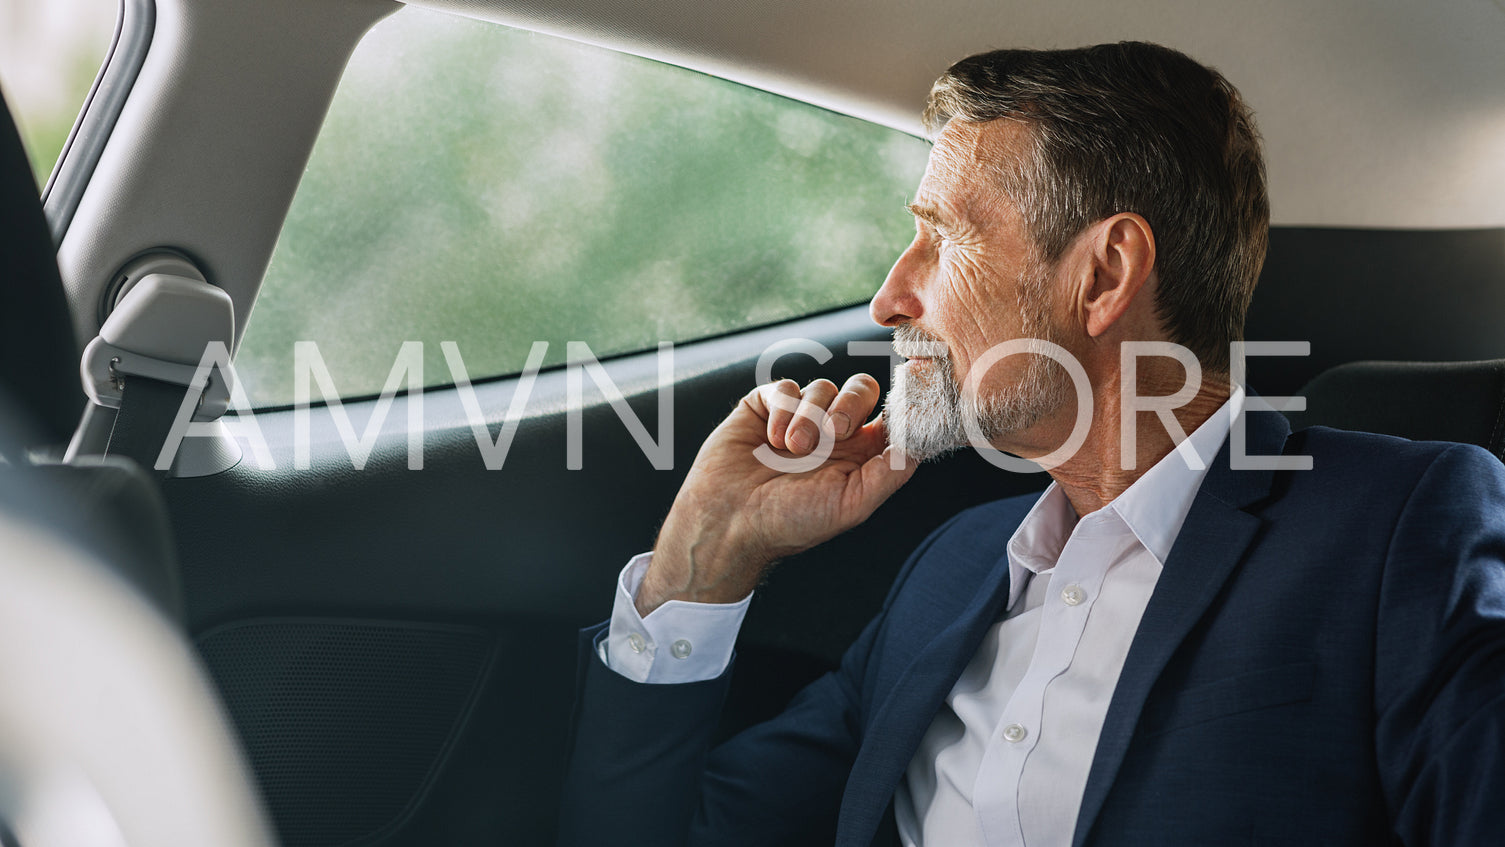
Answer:
[[[1049,335],[1035,332],[1044,340],[1050,340]],[[894,329],[895,343],[930,340],[908,325]],[[950,355],[929,361],[924,373],[908,367],[895,370],[894,385],[883,403],[888,442],[918,462],[939,459],[971,444],[968,420],[993,442],[1034,426],[1066,403],[1073,391],[1070,375],[1058,363],[1043,355],[1026,355],[1017,384],[978,402],[962,391]]]

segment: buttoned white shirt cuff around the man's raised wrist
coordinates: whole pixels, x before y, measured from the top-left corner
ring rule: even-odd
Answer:
[[[600,660],[640,683],[694,683],[719,677],[748,612],[751,594],[736,603],[670,600],[638,615],[634,599],[653,554],[640,554],[622,569],[607,638],[596,644]]]

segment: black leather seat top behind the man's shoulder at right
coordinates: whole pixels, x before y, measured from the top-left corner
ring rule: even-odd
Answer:
[[[1291,426],[1330,426],[1416,441],[1476,444],[1505,462],[1505,360],[1356,361],[1300,391]]]

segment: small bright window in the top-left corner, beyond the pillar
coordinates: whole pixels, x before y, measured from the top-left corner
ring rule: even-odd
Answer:
[[[120,0],[0,0],[0,89],[45,185],[114,36]]]

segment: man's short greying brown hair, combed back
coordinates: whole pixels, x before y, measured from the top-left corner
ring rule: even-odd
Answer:
[[[1213,373],[1243,320],[1269,245],[1270,202],[1254,116],[1239,90],[1183,53],[1144,42],[996,50],[936,80],[924,122],[1011,119],[1031,129],[999,162],[1047,262],[1118,212],[1156,238],[1156,314]]]

